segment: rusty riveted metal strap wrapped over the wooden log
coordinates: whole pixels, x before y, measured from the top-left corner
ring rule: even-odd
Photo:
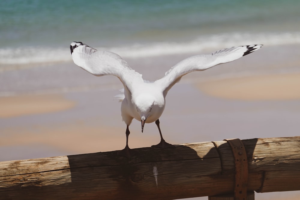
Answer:
[[[235,160],[234,199],[247,199],[248,161],[246,149],[240,139],[225,139],[232,149]]]

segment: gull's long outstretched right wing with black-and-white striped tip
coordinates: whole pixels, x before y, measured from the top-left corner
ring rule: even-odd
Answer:
[[[156,82],[162,86],[164,96],[178,82],[182,76],[193,71],[203,71],[218,64],[234,61],[244,55],[252,53],[262,45],[237,46],[221,49],[208,55],[195,55],[174,65],[165,76]]]

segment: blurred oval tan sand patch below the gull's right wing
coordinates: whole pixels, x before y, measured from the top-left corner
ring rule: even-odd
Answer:
[[[299,100],[300,73],[217,79],[196,84],[205,94],[235,100]]]

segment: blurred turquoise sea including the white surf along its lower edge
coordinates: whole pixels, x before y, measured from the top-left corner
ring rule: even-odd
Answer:
[[[122,57],[300,43],[299,0],[0,1],[0,69],[71,61],[82,41]]]

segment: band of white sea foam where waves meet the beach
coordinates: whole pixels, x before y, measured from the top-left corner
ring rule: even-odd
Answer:
[[[70,41],[72,42],[72,41]],[[84,42],[84,41],[82,41]],[[159,55],[172,55],[181,53],[212,52],[221,48],[264,44],[268,46],[299,44],[300,32],[291,33],[226,33],[204,35],[187,42],[152,42],[147,44],[128,44],[117,47],[97,47],[88,44],[98,50],[115,52],[124,58],[141,58]],[[70,62],[72,57],[70,49],[66,47],[43,47],[29,46],[19,48],[0,48],[1,65],[23,65],[23,64],[51,64],[58,62]]]

